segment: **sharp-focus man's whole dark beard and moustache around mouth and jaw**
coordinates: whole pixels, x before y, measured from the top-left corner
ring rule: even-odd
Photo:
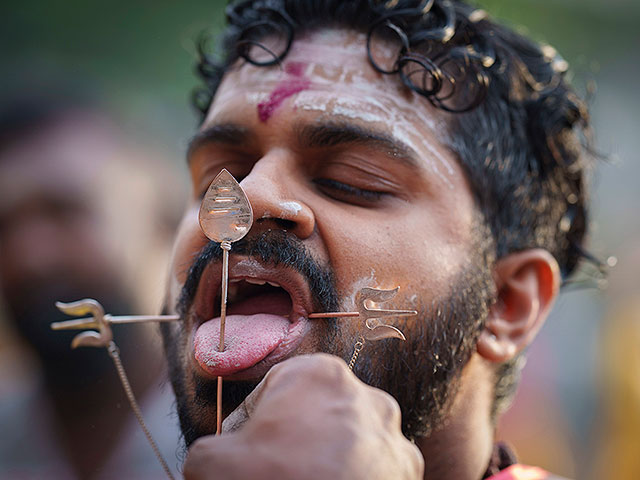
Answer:
[[[253,256],[271,264],[286,264],[301,273],[309,283],[317,311],[338,309],[338,293],[328,267],[317,263],[296,237],[280,231],[265,232],[260,237],[234,244],[233,252]],[[418,317],[398,325],[407,342],[383,340],[369,342],[362,351],[354,373],[365,383],[393,395],[402,410],[402,428],[411,439],[429,435],[446,418],[451,399],[458,389],[462,368],[475,349],[477,337],[495,294],[486,249],[477,250],[468,268],[457,276],[445,298],[421,305]],[[188,311],[204,268],[219,261],[217,244],[207,245],[193,263],[183,290],[178,311]],[[403,308],[398,305],[398,308]],[[354,338],[343,338],[335,321],[319,351],[337,355],[348,361]],[[187,447],[197,438],[210,435],[211,419],[194,418],[191,404],[214,411],[215,381],[194,376],[195,393],[190,398],[185,388],[185,372],[181,368],[180,345],[184,335],[179,326],[161,326],[169,362],[171,382],[177,398],[180,425]],[[184,347],[183,347],[184,348]],[[233,411],[255,388],[257,382],[226,382],[223,389],[224,415]]]

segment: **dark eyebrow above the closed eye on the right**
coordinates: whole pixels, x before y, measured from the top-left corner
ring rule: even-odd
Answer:
[[[394,159],[400,160],[411,168],[419,166],[419,155],[409,145],[384,132],[360,125],[346,123],[304,125],[296,128],[296,135],[298,142],[305,147],[327,148],[359,144],[387,150]]]

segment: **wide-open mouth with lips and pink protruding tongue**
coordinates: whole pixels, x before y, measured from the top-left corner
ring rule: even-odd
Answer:
[[[231,265],[229,273],[224,350],[220,351],[218,266],[203,278],[204,291],[196,297],[198,316],[208,320],[195,331],[194,357],[206,375],[236,376],[249,369],[252,372],[244,376],[254,376],[300,344],[307,331],[310,293],[306,282],[287,268],[245,260]],[[256,366],[260,368],[252,368]]]

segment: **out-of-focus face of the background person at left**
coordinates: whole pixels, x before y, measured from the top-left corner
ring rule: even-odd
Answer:
[[[48,367],[82,363],[69,348],[75,333],[51,332],[51,322],[68,318],[56,301],[88,295],[109,311],[129,308],[91,188],[110,137],[91,119],[61,115],[0,152],[0,296],[9,320]]]

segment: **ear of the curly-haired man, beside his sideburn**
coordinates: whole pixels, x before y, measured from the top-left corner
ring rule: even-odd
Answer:
[[[544,324],[560,288],[558,262],[543,249],[509,254],[496,262],[498,300],[478,339],[478,353],[503,363],[529,345]]]

